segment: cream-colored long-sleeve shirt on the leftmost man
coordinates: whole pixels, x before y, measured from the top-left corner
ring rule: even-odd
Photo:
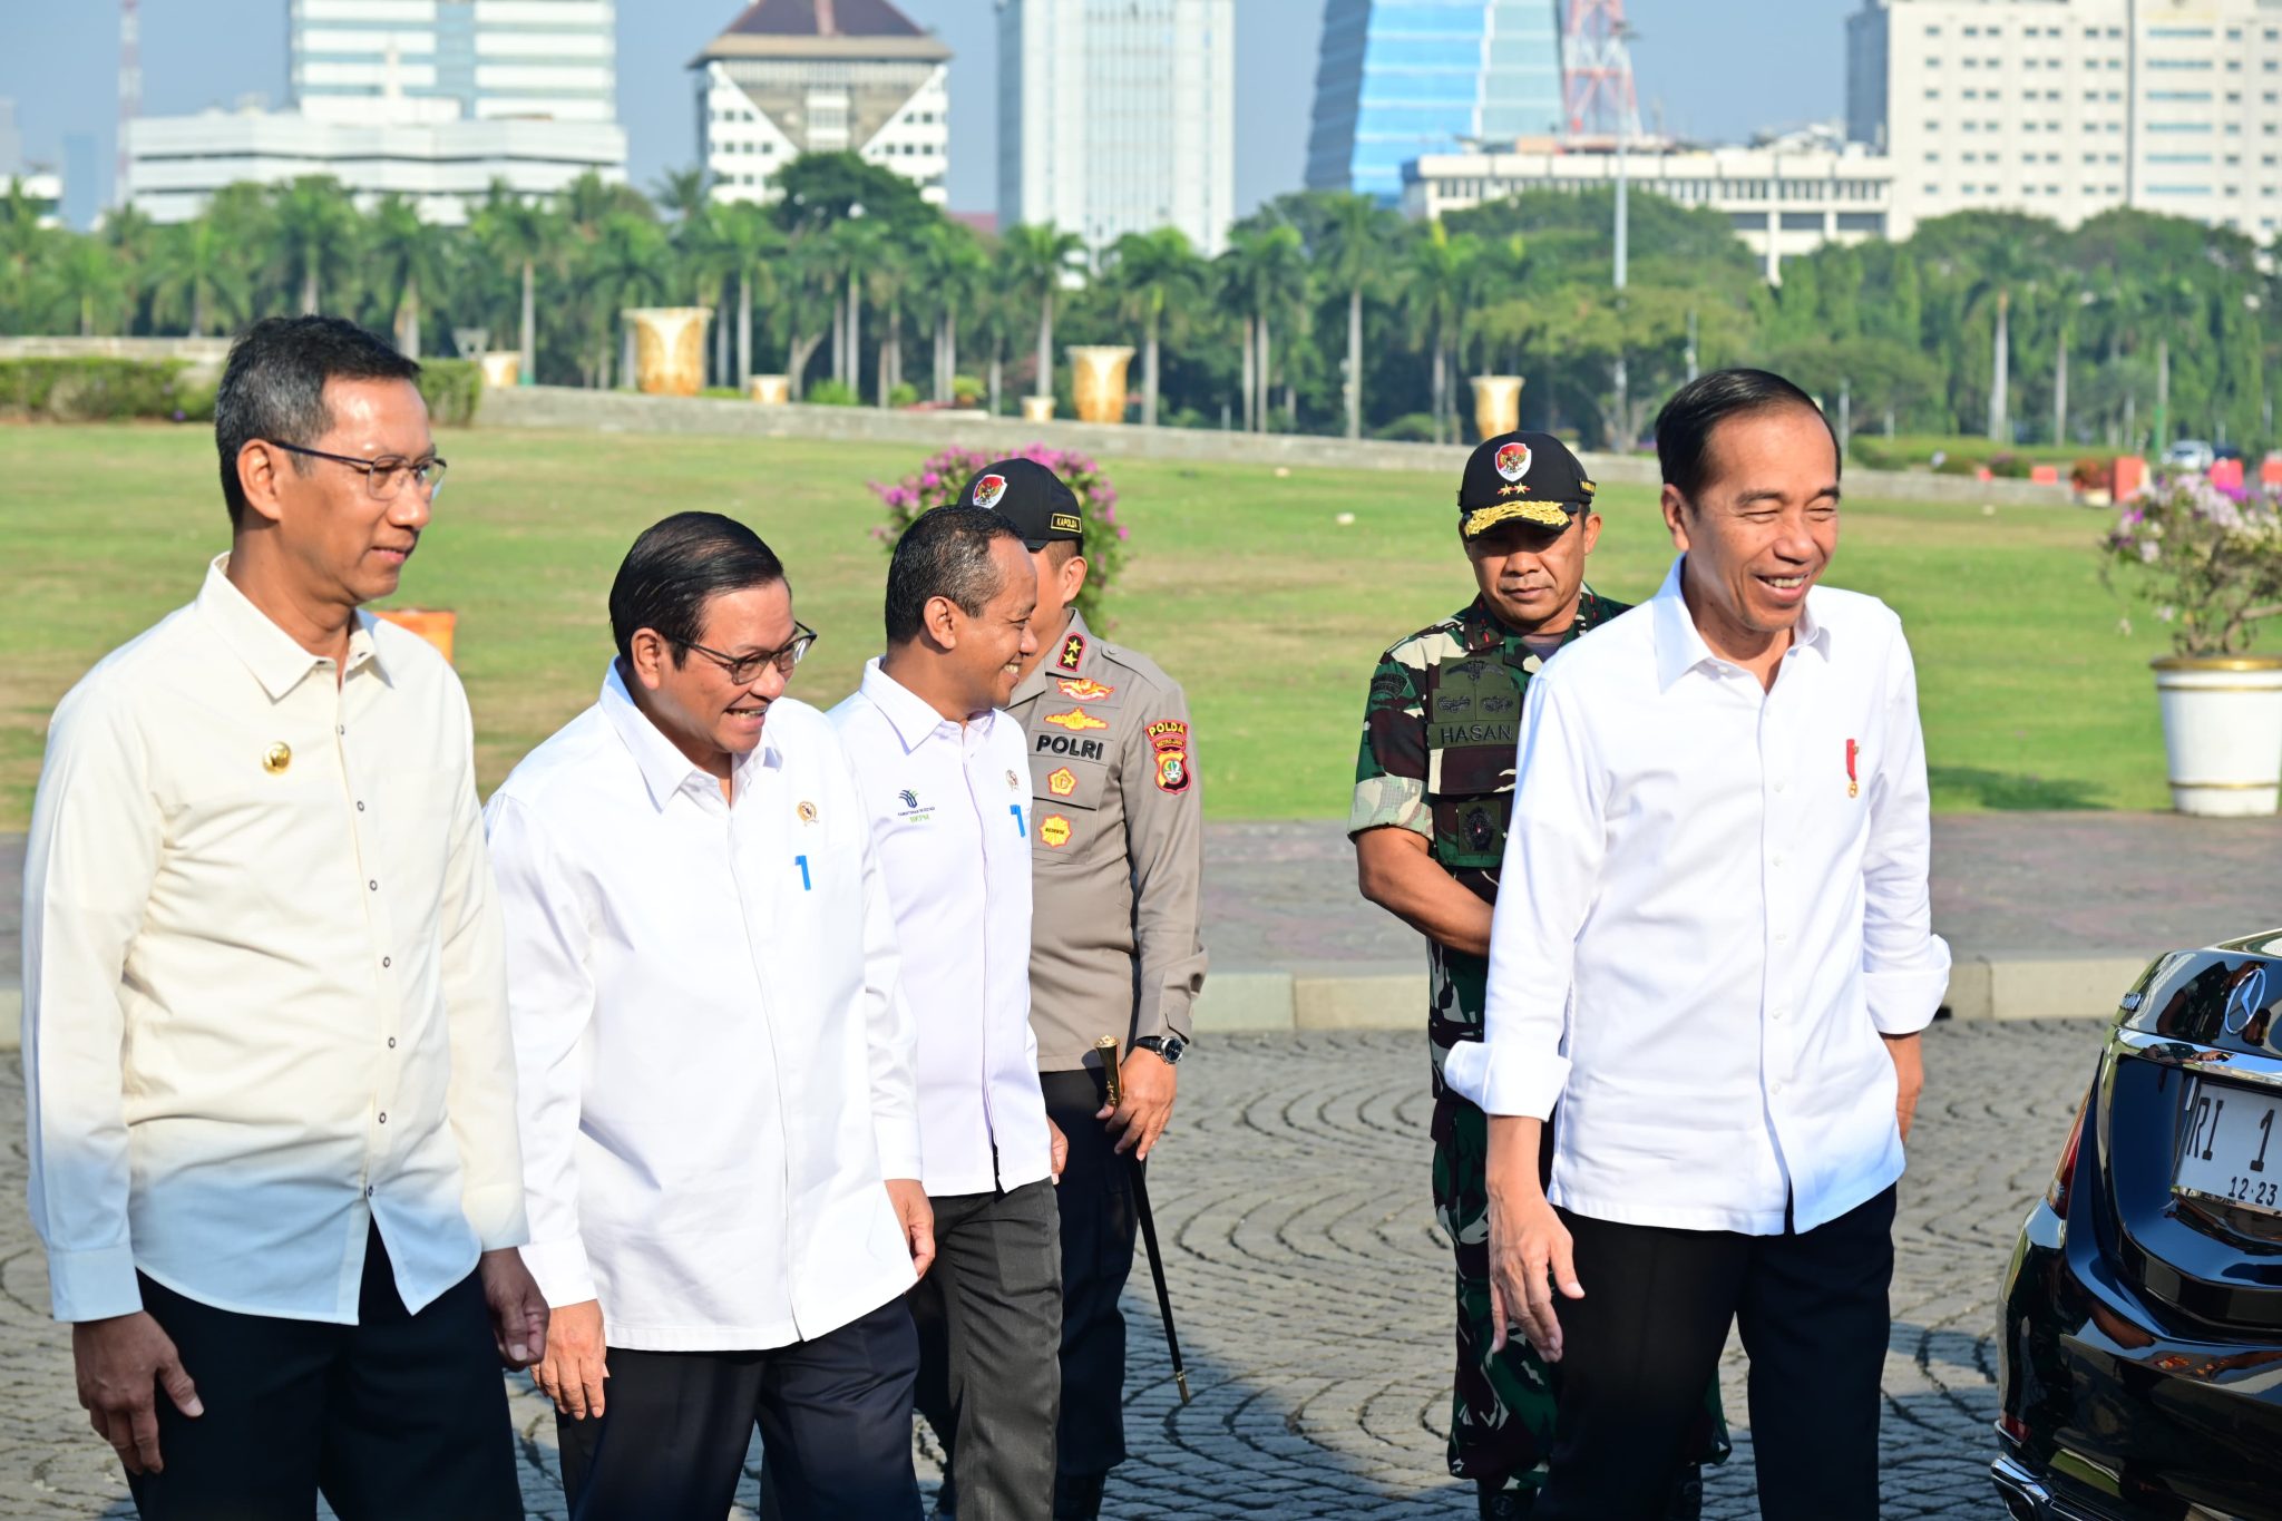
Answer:
[[[32,1225],[59,1320],[356,1323],[525,1241],[468,700],[361,613],[347,670],[208,570],[48,730],[23,892]]]

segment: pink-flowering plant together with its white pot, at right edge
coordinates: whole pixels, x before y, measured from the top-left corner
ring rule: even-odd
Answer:
[[[2152,661],[2170,803],[2182,814],[2271,814],[2282,794],[2282,654],[2252,654],[2282,616],[2282,511],[2266,493],[2172,477],[2122,504],[2102,579],[2170,625]]]

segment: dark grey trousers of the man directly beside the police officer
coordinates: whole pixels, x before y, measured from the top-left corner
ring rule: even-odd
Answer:
[[[1047,1521],[1061,1416],[1057,1188],[929,1199],[936,1266],[911,1291],[920,1414],[949,1455],[961,1521]]]

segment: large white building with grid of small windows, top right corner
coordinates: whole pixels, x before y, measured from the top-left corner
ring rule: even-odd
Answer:
[[[1960,210],[2118,205],[2282,230],[2282,0],[1864,0],[1848,135],[1894,162],[1892,237]]]

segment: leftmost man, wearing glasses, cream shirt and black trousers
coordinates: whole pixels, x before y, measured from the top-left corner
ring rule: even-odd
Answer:
[[[420,367],[253,324],[230,552],[57,707],[23,894],[32,1225],[146,1516],[520,1516],[545,1350],[468,700],[395,593]],[[157,1398],[164,1391],[164,1398]]]

